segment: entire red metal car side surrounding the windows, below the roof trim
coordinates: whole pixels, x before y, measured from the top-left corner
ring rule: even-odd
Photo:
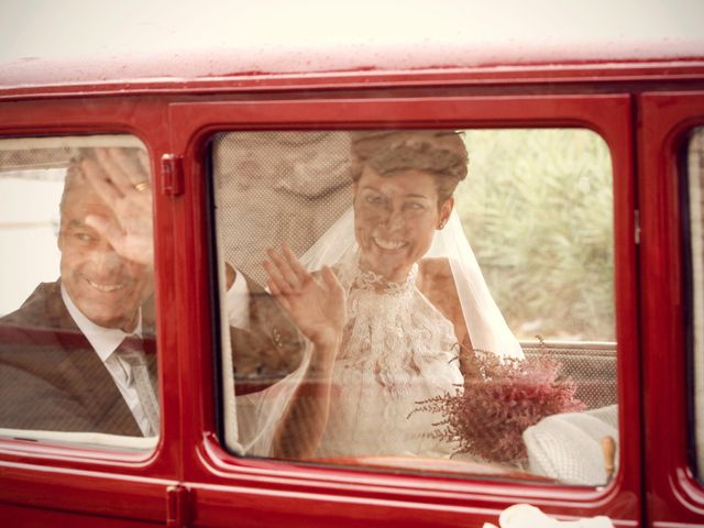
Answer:
[[[696,74],[698,75],[698,74]],[[695,76],[696,76],[695,75]],[[438,84],[447,80],[440,75]],[[358,79],[359,80],[359,79]],[[388,77],[388,82],[393,78]],[[465,79],[466,80],[466,79]],[[459,79],[459,82],[465,82]],[[218,89],[226,89],[223,81]],[[430,86],[430,85],[429,85]],[[692,86],[692,85],[690,85]],[[231,87],[232,88],[232,87]],[[31,90],[30,90],[31,91]],[[51,90],[50,90],[51,91]],[[393,95],[392,91],[387,92]],[[25,92],[26,95],[26,92]],[[219,96],[218,96],[219,97]],[[195,488],[195,520],[204,526],[481,526],[513,502],[557,515],[605,513],[625,526],[647,508],[653,526],[703,522],[704,493],[686,468],[680,209],[675,152],[690,127],[704,123],[701,94],[646,95],[638,117],[641,211],[640,300],[632,243],[635,188],[627,96],[437,97],[376,100],[182,101],[165,96],[73,98],[0,103],[0,134],[129,132],[151,151],[185,155],[185,194],[155,195],[163,438],[148,457],[0,442],[0,514],[8,519],[64,518],[89,526],[129,525],[129,517],[166,518],[166,486]],[[376,96],[378,97],[378,95]],[[170,119],[170,121],[169,121]],[[622,471],[605,491],[563,486],[398,476],[342,469],[239,460],[213,436],[209,262],[204,147],[211,133],[234,129],[366,127],[590,127],[612,148],[615,179],[616,300],[619,341]],[[638,301],[642,311],[639,321]],[[639,322],[641,333],[639,333]],[[639,336],[642,349],[639,352]],[[639,385],[644,372],[642,391]],[[641,458],[639,399],[645,397]],[[667,405],[666,405],[667,403]],[[645,460],[645,473],[641,461]],[[184,465],[185,464],[185,465]],[[647,480],[644,480],[647,477]],[[644,490],[645,487],[645,495]],[[25,505],[26,508],[15,505]],[[32,508],[32,509],[29,509]],[[35,509],[36,508],[36,509]],[[53,512],[64,510],[65,514]],[[32,517],[28,512],[36,512]],[[73,514],[72,514],[73,512]],[[79,512],[82,514],[79,515]],[[48,516],[48,517],[47,517]],[[55,516],[55,517],[52,517]],[[105,516],[105,517],[103,517]],[[91,518],[92,519],[92,518]],[[105,522],[103,522],[105,520]],[[50,521],[50,520],[47,520]],[[29,522],[29,520],[28,520]],[[61,521],[59,521],[61,522]]]

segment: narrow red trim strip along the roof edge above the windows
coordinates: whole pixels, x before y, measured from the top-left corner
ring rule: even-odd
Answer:
[[[407,72],[350,70],[316,74],[262,74],[256,72],[201,78],[182,77],[113,79],[100,82],[68,82],[45,86],[0,88],[0,100],[55,99],[130,95],[230,95],[252,97],[257,92],[341,91],[359,88],[448,88],[471,87],[506,92],[515,87],[525,91],[559,91],[562,86],[580,91],[603,91],[605,84],[702,82],[704,57],[690,61],[575,62],[572,64],[471,68],[428,68]],[[570,86],[571,85],[571,86]]]

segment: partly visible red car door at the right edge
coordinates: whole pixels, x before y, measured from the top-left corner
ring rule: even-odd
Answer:
[[[701,184],[688,160],[704,124],[704,95],[644,94],[638,123],[648,526],[702,526],[702,404],[695,389],[702,361],[695,299],[702,292],[694,282],[701,217],[689,201]]]

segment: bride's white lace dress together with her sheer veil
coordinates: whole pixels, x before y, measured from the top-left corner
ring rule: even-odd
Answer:
[[[448,458],[457,446],[432,438],[440,416],[420,402],[462,385],[452,323],[416,286],[417,265],[404,284],[384,284],[359,268],[354,216],[349,209],[307,252],[310,271],[331,266],[348,290],[348,323],[336,361],[330,416],[317,455]],[[457,212],[436,232],[426,256],[448,258],[472,344],[497,355],[521,358],[484,282]],[[224,273],[221,271],[221,273]],[[229,341],[224,369],[231,372]],[[224,376],[228,446],[242,454],[267,455],[276,426],[308,369],[311,348],[298,370],[273,387],[234,398]]]

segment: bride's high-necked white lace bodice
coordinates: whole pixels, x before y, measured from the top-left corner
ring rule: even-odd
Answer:
[[[448,457],[428,435],[437,417],[414,410],[462,384],[452,323],[416,286],[417,266],[404,283],[360,270],[356,255],[334,271],[349,320],[319,457]]]

